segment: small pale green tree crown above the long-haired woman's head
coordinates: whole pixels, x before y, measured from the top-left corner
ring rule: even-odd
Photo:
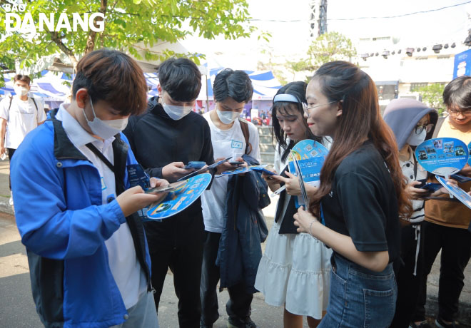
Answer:
[[[329,61],[349,61],[356,55],[352,41],[338,32],[329,32],[318,36],[310,45],[308,58],[290,63],[293,71],[315,71]]]

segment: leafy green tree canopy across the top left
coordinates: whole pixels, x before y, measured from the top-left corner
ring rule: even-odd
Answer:
[[[16,0],[0,0],[0,64],[3,69],[14,69],[15,61],[29,67],[41,56],[64,52],[74,65],[84,53],[96,48],[113,48],[148,61],[176,56],[173,51],[150,51],[160,41],[176,42],[190,34],[206,39],[223,35],[226,39],[249,36],[254,31],[247,23],[250,18],[246,0],[35,0],[26,2],[26,11],[15,11],[24,18],[33,17],[36,34],[6,32],[6,5]],[[102,32],[39,31],[39,14],[66,13],[72,26],[72,14],[101,12],[105,14]],[[100,18],[95,21],[99,21]],[[88,24],[87,24],[88,26]],[[137,46],[139,45],[139,46]],[[143,54],[141,56],[141,54]],[[178,54],[199,63],[198,53]],[[0,81],[2,69],[0,68]],[[1,82],[0,82],[1,83]]]

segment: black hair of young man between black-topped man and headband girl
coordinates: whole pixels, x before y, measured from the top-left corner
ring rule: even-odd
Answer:
[[[252,81],[244,71],[226,68],[216,75],[213,93],[216,101],[225,101],[226,98],[231,97],[238,103],[248,103],[253,94]]]

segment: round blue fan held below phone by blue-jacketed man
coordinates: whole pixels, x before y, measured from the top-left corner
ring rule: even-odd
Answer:
[[[189,178],[185,183],[171,193],[158,204],[152,204],[146,211],[146,218],[143,221],[159,221],[167,217],[176,215],[193,204],[201,193],[203,193],[211,183],[211,174],[202,173],[193,178]]]

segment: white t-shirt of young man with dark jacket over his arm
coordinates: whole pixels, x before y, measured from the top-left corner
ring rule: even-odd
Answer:
[[[211,121],[210,112],[204,113],[203,118],[208,121],[211,128],[211,143],[213,144],[214,158],[227,158],[229,156],[242,157],[245,153],[245,138],[239,120],[234,121],[232,128],[221,130]],[[253,123],[248,122],[248,141],[252,145],[252,151],[248,154],[260,162],[260,147],[258,130]],[[213,180],[210,190],[205,190],[201,195],[203,207],[204,227],[206,231],[223,232],[223,214],[226,206],[226,192],[228,175]]]

